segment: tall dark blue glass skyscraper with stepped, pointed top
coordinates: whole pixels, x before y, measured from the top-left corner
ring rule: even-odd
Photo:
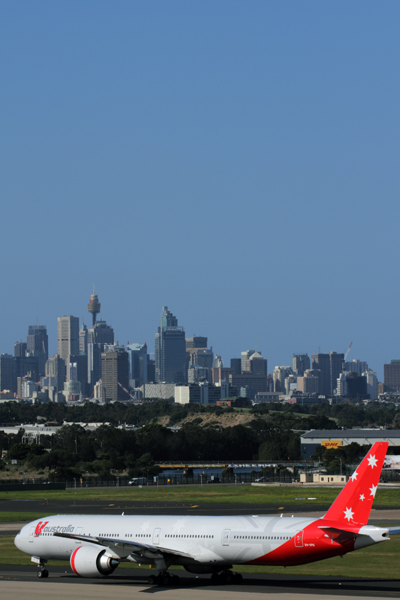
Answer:
[[[155,337],[156,382],[186,383],[185,330],[178,319],[163,306],[160,326]]]

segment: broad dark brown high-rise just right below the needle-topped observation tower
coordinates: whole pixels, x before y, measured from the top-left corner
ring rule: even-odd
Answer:
[[[129,357],[123,346],[102,353],[101,380],[107,400],[129,400]]]

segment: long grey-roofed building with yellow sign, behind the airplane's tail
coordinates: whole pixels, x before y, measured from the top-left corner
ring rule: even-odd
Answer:
[[[353,442],[360,446],[389,442],[389,447],[398,447],[400,453],[400,429],[313,429],[300,438],[301,456],[309,459],[319,446],[339,448]]]

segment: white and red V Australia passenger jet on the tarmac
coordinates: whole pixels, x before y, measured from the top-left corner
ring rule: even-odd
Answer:
[[[168,569],[211,574],[240,583],[233,565],[294,566],[342,556],[389,540],[400,527],[368,525],[388,448],[375,443],[321,518],[275,516],[57,515],[25,525],[15,545],[29,554],[38,577],[48,560],[69,560],[81,577],[104,577],[121,562],[155,567],[149,584],[178,585]]]

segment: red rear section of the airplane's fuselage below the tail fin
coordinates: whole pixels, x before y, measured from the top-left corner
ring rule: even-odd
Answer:
[[[320,529],[321,526],[329,529]],[[304,528],[302,536],[296,534],[275,550],[245,564],[289,567],[340,556],[354,550],[360,527],[362,525],[348,527],[351,531],[335,531],[340,529],[337,523],[318,519]]]

